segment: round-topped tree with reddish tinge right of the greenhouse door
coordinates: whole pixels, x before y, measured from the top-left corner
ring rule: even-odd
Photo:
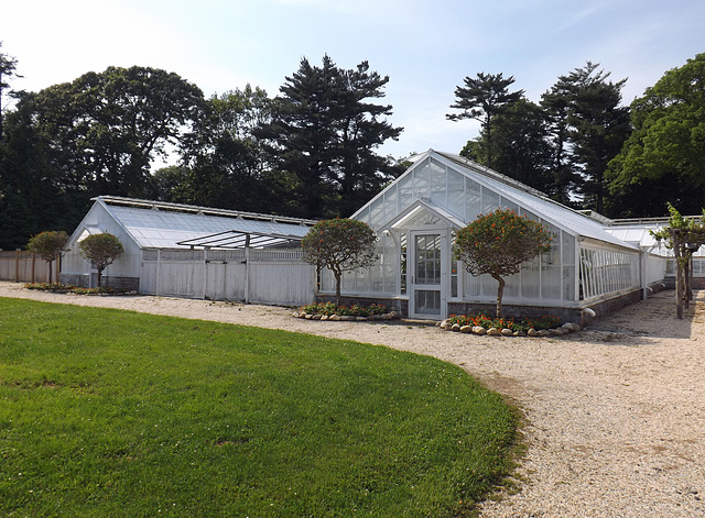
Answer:
[[[550,250],[551,234],[541,223],[499,209],[458,230],[453,245],[455,257],[470,274],[489,274],[499,283],[497,318],[502,312],[505,277],[518,274],[523,263]]]

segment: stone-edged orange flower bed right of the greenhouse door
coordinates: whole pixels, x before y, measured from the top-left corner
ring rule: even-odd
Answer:
[[[562,324],[557,317],[550,315],[522,320],[497,319],[485,315],[451,315],[438,326],[448,331],[494,337],[561,337],[581,330],[578,324],[571,322]]]

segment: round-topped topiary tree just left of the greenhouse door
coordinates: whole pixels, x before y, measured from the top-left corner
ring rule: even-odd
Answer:
[[[335,218],[318,221],[301,241],[304,261],[324,267],[335,277],[336,304],[340,305],[340,280],[343,272],[371,266],[377,256],[377,235],[367,223],[358,220]]]

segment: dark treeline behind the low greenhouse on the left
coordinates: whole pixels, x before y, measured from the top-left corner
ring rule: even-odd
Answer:
[[[324,56],[302,59],[275,98],[248,86],[205,99],[145,67],[21,92],[2,120],[0,247],[72,232],[100,195],[349,216],[403,170],[376,153],[402,131],[387,122],[392,107],[373,102],[388,81],[367,62],[343,69]],[[152,174],[167,153],[178,165]]]

